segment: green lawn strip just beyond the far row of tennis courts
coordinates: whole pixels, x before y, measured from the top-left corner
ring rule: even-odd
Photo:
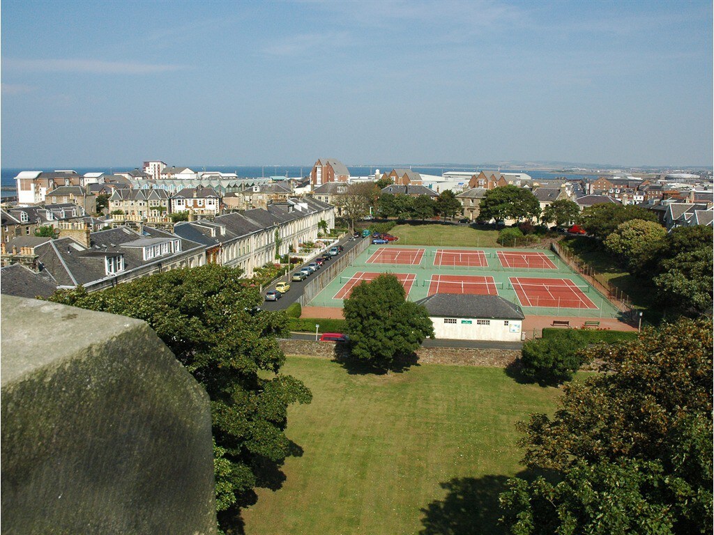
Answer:
[[[479,230],[463,225],[396,225],[391,234],[398,245],[448,245],[450,247],[501,247],[498,230]]]

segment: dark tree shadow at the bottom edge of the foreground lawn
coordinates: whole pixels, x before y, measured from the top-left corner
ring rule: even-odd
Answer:
[[[553,479],[552,474],[524,470],[516,477],[533,481],[543,476]],[[498,519],[503,511],[498,496],[506,490],[506,476],[457,477],[441,483],[446,497],[432,501],[421,509],[423,529],[420,535],[498,535],[508,531]]]

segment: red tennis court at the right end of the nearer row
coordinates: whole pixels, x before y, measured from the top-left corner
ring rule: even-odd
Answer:
[[[597,308],[583,290],[570,279],[509,277],[518,300],[524,307]]]

